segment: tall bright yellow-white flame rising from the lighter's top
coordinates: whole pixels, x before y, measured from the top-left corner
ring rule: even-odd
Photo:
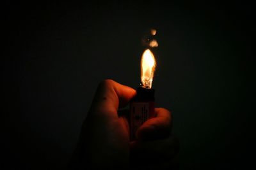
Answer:
[[[156,60],[153,53],[147,49],[141,57],[141,83],[142,87],[151,89],[156,67]]]

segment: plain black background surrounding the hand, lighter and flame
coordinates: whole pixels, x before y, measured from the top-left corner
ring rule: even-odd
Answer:
[[[181,169],[255,167],[252,4],[1,6],[1,167],[58,169],[97,84],[138,87],[141,38],[157,29],[157,106],[173,112]],[[1,168],[0,167],[0,168]]]

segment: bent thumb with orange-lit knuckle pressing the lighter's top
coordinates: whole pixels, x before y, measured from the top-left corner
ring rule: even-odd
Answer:
[[[125,106],[135,95],[136,90],[131,87],[121,85],[113,80],[104,80],[97,88],[89,112],[117,117],[118,107]]]

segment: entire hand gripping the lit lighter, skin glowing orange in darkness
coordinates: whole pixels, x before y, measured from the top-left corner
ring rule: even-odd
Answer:
[[[179,141],[171,135],[172,114],[156,108],[156,117],[147,120],[129,141],[128,114],[123,108],[136,90],[113,80],[99,84],[79,143],[70,164],[72,169],[175,169]],[[138,161],[140,160],[140,161]],[[174,165],[174,166],[173,166]]]

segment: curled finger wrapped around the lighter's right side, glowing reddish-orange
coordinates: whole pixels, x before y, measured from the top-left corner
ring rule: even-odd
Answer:
[[[164,108],[156,108],[156,117],[147,120],[136,132],[139,140],[154,140],[166,138],[172,127],[172,114]]]

